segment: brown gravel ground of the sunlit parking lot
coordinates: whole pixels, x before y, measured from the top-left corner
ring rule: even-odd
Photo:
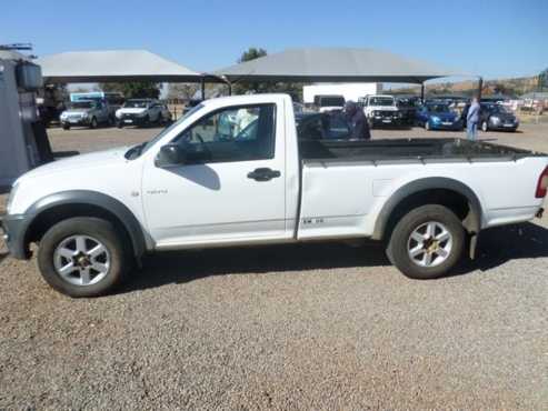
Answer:
[[[548,152],[548,126],[522,130],[481,137]],[[158,130],[49,132],[86,152]],[[486,231],[436,281],[380,244],[322,243],[158,254],[116,295],[71,300],[0,245],[0,410],[546,410],[547,263],[545,218]]]

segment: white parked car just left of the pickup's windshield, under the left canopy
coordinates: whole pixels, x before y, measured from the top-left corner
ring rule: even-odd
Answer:
[[[117,126],[165,124],[171,121],[167,106],[152,99],[130,99],[116,112]]]

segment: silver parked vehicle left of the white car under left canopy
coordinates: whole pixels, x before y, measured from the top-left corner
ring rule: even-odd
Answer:
[[[59,120],[64,130],[69,130],[73,126],[94,129],[99,124],[112,124],[108,104],[98,100],[71,102],[70,108],[61,113]]]

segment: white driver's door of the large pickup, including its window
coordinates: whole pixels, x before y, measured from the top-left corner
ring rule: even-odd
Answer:
[[[282,120],[275,103],[225,107],[171,141],[185,147],[185,163],[147,164],[143,204],[158,248],[288,235]]]

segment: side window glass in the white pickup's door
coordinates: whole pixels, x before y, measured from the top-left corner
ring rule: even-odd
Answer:
[[[223,108],[205,116],[173,142],[202,153],[193,162],[232,162],[275,156],[275,104]]]

